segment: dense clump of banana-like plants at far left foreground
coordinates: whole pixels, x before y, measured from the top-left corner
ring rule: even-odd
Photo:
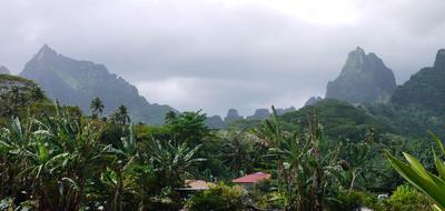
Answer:
[[[98,141],[100,128],[57,113],[43,121],[31,118],[26,124],[16,118],[2,129],[0,157],[9,167],[1,170],[8,175],[2,180],[16,185],[3,185],[1,192],[26,200],[18,202],[33,202],[39,210],[79,210],[88,179],[106,163],[109,147]]]

